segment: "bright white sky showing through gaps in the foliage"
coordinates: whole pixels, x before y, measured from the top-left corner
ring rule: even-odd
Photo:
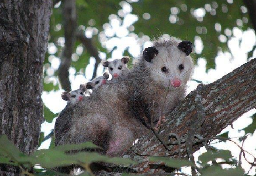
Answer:
[[[58,5],[58,4],[57,4]],[[57,7],[57,6],[56,6]],[[175,12],[175,9],[173,9]],[[132,58],[138,58],[140,51],[142,51],[142,48],[149,47],[151,45],[150,37],[149,36],[141,36],[139,37],[137,34],[134,34],[130,31],[130,28],[133,26],[133,24],[138,20],[136,15],[131,14],[132,9],[130,5],[122,4],[122,12],[118,12],[119,15],[124,15],[123,23],[117,18],[117,15],[110,15],[109,16],[109,23],[106,23],[103,28],[104,31],[100,32],[100,42],[102,43],[103,47],[106,47],[108,51],[112,51],[114,47],[116,47],[115,50],[112,52],[111,58],[106,58],[105,53],[100,53],[101,59],[120,59],[123,57],[124,50],[128,47],[128,51],[130,53],[130,57]],[[203,16],[205,12],[203,12],[202,9],[198,9],[196,12],[194,12],[195,15],[198,17]],[[144,14],[143,18],[150,18],[150,14]],[[173,20],[173,19],[170,19]],[[171,21],[170,21],[171,22]],[[93,21],[91,21],[93,23]],[[57,25],[58,27],[58,25]],[[83,28],[84,26],[80,26],[80,28]],[[215,26],[216,30],[218,30],[218,26]],[[58,29],[57,29],[58,30]],[[94,29],[93,27],[87,27],[85,29],[85,35],[87,37],[92,37],[93,35],[97,34],[97,29]],[[256,45],[256,36],[253,29],[247,29],[245,31],[242,31],[238,27],[234,27],[231,31],[226,31],[227,33],[231,32],[232,37],[227,41],[227,45],[229,47],[230,52],[222,52],[218,51],[217,56],[215,59],[216,67],[215,69],[209,69],[206,72],[206,59],[200,57],[198,58],[197,62],[195,62],[195,72],[193,75],[193,79],[200,80],[204,84],[212,83],[213,81],[216,81],[217,79],[222,78],[222,76],[228,74],[229,72],[232,72],[232,70],[238,68],[242,64],[248,62],[248,52],[250,52],[254,45]],[[112,37],[116,35],[116,37]],[[111,39],[108,39],[108,37],[112,37]],[[163,37],[169,37],[168,34],[163,34]],[[220,41],[225,40],[223,36],[220,36],[218,38]],[[227,40],[227,38],[226,38]],[[59,38],[58,40],[61,45],[64,45],[65,39]],[[194,40],[194,51],[197,54],[200,54],[203,50],[203,42],[200,37],[195,36]],[[49,43],[48,45],[48,53],[54,54],[57,52],[57,48],[53,43]],[[83,52],[83,47],[79,46],[76,49],[76,53],[73,54],[72,59],[75,61]],[[253,52],[253,57],[256,57],[256,50]],[[249,58],[252,59],[252,58]],[[52,81],[53,83],[57,84],[58,80],[54,78],[54,72],[58,69],[60,64],[60,58],[55,57],[54,55],[49,56],[50,65],[48,67],[45,67],[46,72],[48,73],[48,78],[45,78],[44,81]],[[92,71],[95,64],[95,59],[93,57],[90,58],[90,64],[88,64],[85,67],[85,75],[83,74],[76,74],[75,68],[69,69],[69,79],[71,81],[71,87],[73,90],[76,90],[79,88],[79,85],[81,83],[86,83],[89,81],[92,77]],[[228,67],[227,67],[228,65]],[[101,76],[103,74],[104,68],[102,65],[100,65],[97,69],[97,75]],[[192,90],[196,89],[198,83],[195,81],[189,81],[188,83],[189,89],[187,91],[187,94],[191,92]],[[65,106],[66,101],[62,100],[61,93],[64,92],[64,90],[60,89],[58,91],[50,91],[46,92],[43,91],[43,102],[46,107],[48,107],[53,113],[60,112]],[[244,136],[245,132],[241,129],[244,127],[247,127],[250,123],[252,123],[252,116],[254,113],[256,113],[256,109],[253,109],[252,111],[249,111],[243,116],[241,116],[236,122],[233,123],[232,129],[230,126],[224,129],[221,133],[224,133],[226,131],[229,131],[229,137],[240,137]],[[53,123],[44,122],[41,125],[41,131],[44,132],[44,136],[48,135],[54,127],[56,118],[53,120]],[[46,140],[39,149],[48,148],[50,145],[50,140]],[[234,141],[237,142],[237,144],[241,144],[237,139],[234,139]],[[250,153],[252,153],[256,157],[256,134],[254,132],[253,135],[248,136],[248,139],[246,140],[245,144],[243,145],[243,148]],[[239,156],[239,150],[238,147],[232,142],[221,142],[217,144],[213,144],[212,146],[216,147],[217,149],[228,149],[231,150],[232,155],[238,157]],[[199,151],[194,153],[194,156],[197,160],[198,156],[206,152],[206,150],[202,147]],[[249,156],[248,156],[249,158]],[[249,160],[253,160],[252,158],[249,158]],[[242,159],[242,167],[245,169],[245,171],[248,171],[250,168],[250,165]],[[182,171],[189,172],[189,169],[185,168]],[[250,171],[250,174],[256,174],[256,167]]]

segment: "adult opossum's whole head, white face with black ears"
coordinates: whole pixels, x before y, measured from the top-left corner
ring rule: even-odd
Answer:
[[[194,64],[189,54],[192,52],[190,41],[171,37],[156,40],[152,47],[145,48],[143,58],[146,69],[156,84],[170,90],[179,89],[191,79]]]

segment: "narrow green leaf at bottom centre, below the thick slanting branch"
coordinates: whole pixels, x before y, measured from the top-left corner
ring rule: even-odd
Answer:
[[[187,160],[178,160],[168,157],[149,157],[149,161],[164,162],[166,166],[179,169],[184,166],[195,166],[194,163]]]

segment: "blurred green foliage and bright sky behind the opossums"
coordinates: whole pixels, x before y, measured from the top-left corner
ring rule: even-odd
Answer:
[[[53,127],[66,106],[63,91],[79,88],[103,74],[101,59],[137,59],[151,40],[174,36],[194,44],[194,81],[188,93],[202,82],[212,83],[256,57],[256,1],[153,1],[153,0],[54,0],[48,52],[44,62],[44,117],[40,148],[54,146]],[[132,61],[129,62],[132,67]],[[248,139],[243,148],[256,156],[256,110],[244,114],[222,136]],[[239,140],[234,139],[238,144]],[[240,142],[241,144],[241,142]],[[231,142],[213,144],[239,156]],[[201,148],[194,155],[206,152]],[[252,160],[248,156],[248,160]],[[255,174],[255,167],[242,160]]]

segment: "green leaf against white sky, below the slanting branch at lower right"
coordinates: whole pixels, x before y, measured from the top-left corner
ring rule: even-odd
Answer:
[[[223,159],[223,160],[229,160],[232,158],[231,151],[229,150],[220,150],[217,153],[211,153],[206,152],[199,156],[199,160],[206,164],[209,161],[216,160],[217,158]]]

